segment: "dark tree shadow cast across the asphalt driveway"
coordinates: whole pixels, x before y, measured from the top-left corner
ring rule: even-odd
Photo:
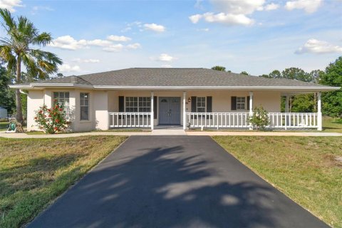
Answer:
[[[106,159],[30,225],[274,227],[268,187],[229,183],[199,155],[182,154],[157,147]]]

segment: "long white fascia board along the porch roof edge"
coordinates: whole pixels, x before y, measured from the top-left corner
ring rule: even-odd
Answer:
[[[328,86],[93,86],[113,90],[279,90],[279,91],[332,91],[340,87]]]

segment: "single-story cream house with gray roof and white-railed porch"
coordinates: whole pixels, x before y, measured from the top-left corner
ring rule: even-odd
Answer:
[[[253,108],[269,112],[269,128],[322,129],[321,92],[338,90],[283,78],[207,68],[128,68],[10,86],[28,90],[27,128],[39,106],[66,105],[74,131],[110,128],[247,128]],[[289,96],[317,93],[317,113],[289,113]],[[281,96],[286,111],[281,113]]]

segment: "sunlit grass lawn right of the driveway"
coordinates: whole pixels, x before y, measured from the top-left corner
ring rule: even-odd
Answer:
[[[342,227],[342,138],[214,136],[224,149],[302,207]]]

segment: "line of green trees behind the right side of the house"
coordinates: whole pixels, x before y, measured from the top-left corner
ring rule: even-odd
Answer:
[[[224,66],[213,66],[213,70],[227,71]],[[240,74],[249,75],[246,71]],[[263,74],[263,78],[286,78],[291,80],[318,83],[325,86],[342,87],[342,56],[326,66],[324,71],[314,70],[306,72],[301,68],[286,68],[284,71],[274,70],[269,74]],[[285,110],[285,97],[281,98],[281,111]],[[316,113],[317,94],[308,93],[291,95],[289,97],[289,110],[293,113]],[[342,116],[342,89],[322,93],[322,113],[331,117]]]

